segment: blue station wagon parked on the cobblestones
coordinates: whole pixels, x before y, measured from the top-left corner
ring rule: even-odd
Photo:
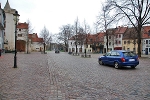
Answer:
[[[113,65],[115,68],[131,66],[135,68],[139,64],[138,55],[126,50],[113,50],[98,58],[100,65]]]

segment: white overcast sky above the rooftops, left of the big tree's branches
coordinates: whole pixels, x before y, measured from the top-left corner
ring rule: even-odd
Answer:
[[[7,0],[0,0],[4,8]],[[92,27],[101,10],[104,0],[8,0],[10,7],[20,14],[19,22],[29,19],[34,33],[40,33],[45,26],[49,32],[56,34],[62,25],[73,25],[84,19]]]

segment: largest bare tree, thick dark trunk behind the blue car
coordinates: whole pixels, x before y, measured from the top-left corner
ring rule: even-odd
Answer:
[[[119,16],[126,18],[138,34],[138,56],[141,57],[141,30],[146,24],[150,24],[149,0],[108,0],[108,6]]]

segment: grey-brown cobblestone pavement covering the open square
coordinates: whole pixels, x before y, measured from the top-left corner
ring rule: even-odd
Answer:
[[[13,54],[0,57],[1,100],[150,100],[150,59],[136,69],[115,69],[67,53]]]

